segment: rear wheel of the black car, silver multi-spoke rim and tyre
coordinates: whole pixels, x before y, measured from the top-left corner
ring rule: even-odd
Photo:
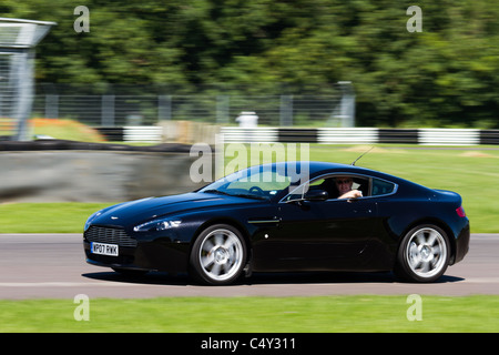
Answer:
[[[418,225],[400,243],[395,274],[409,282],[435,282],[446,272],[449,256],[446,233],[432,224]]]

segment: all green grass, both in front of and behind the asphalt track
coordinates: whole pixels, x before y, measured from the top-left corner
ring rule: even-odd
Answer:
[[[413,146],[414,148],[414,146]],[[368,146],[310,145],[310,159],[350,163]],[[464,197],[473,233],[499,232],[499,151],[377,146],[357,165]],[[79,233],[112,203],[0,204],[0,233]],[[73,300],[0,301],[0,332],[499,332],[499,296],[422,296],[409,322],[406,296],[169,297],[90,300],[77,322]]]

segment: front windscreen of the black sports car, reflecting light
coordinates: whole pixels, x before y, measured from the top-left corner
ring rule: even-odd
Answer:
[[[198,192],[271,200],[295,189],[301,181],[302,174],[286,164],[257,165],[222,178]]]

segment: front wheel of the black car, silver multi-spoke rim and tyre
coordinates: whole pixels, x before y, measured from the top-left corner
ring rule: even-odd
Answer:
[[[194,242],[190,266],[195,280],[210,285],[227,285],[242,274],[246,244],[238,230],[216,224],[204,230]]]

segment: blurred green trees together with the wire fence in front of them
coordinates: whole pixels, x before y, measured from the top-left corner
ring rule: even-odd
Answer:
[[[249,110],[258,125],[499,129],[495,1],[88,0],[77,32],[80,4],[0,4],[57,22],[35,48],[31,116],[236,124]],[[407,30],[414,4],[421,32]]]

